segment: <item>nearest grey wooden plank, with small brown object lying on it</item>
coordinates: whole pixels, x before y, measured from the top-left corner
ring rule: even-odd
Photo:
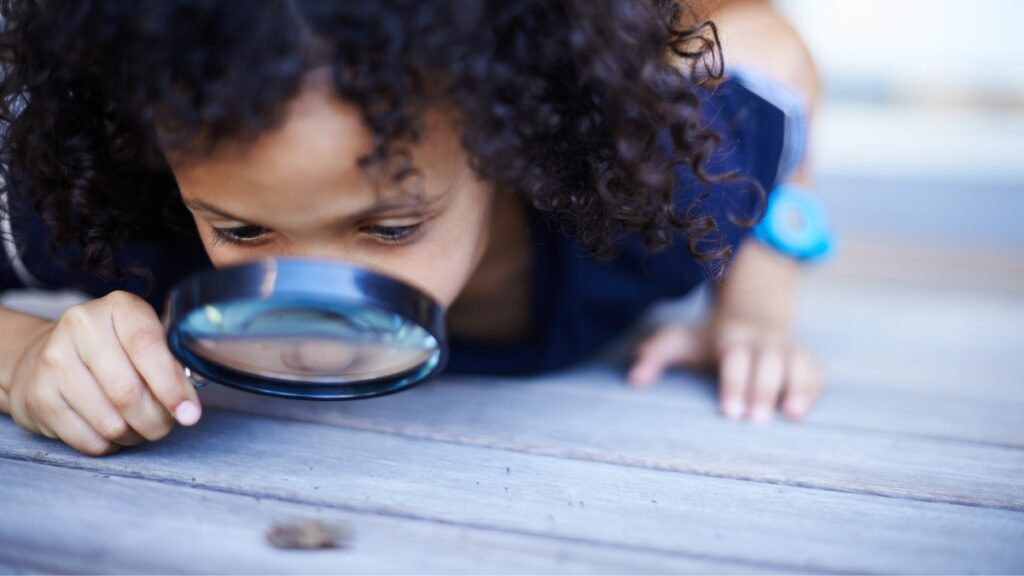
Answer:
[[[0,567],[89,573],[736,573],[771,567],[599,546],[0,459]],[[286,550],[280,522],[344,529]],[[777,568],[776,568],[777,570]],[[0,569],[2,571],[2,569]]]

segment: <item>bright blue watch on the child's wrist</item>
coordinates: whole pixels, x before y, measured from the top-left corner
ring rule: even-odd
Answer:
[[[772,191],[768,209],[754,228],[754,236],[801,261],[824,258],[834,244],[824,206],[796,184],[781,184]]]

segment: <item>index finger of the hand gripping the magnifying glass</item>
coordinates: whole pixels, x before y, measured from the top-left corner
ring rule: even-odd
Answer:
[[[133,295],[123,296],[112,313],[114,331],[139,375],[164,408],[185,426],[199,421],[202,405],[171,355],[156,311]]]

